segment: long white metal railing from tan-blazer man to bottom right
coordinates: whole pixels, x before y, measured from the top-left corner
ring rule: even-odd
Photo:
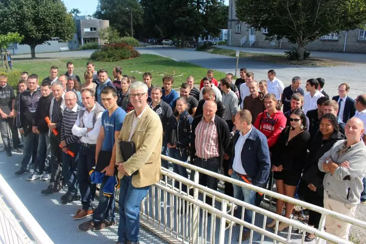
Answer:
[[[339,244],[350,243],[324,231],[326,216],[331,216],[366,229],[366,222],[361,220],[356,220],[292,197],[234,180],[230,177],[207,171],[164,155],[161,157],[174,164],[194,170],[194,179],[193,181],[189,180],[162,168],[164,180],[151,187],[141,204],[140,210],[143,219],[157,226],[157,228],[162,230],[165,234],[173,236],[181,242],[196,244],[200,240],[201,243],[207,243],[208,241],[209,243],[230,244],[235,237],[239,237],[239,240],[241,240],[243,228],[246,227],[250,230],[249,243],[252,243],[253,241],[260,241],[263,243],[264,241],[268,241],[268,239],[273,243],[280,242],[290,244],[295,243],[296,240],[297,242],[304,243],[306,233],[314,234],[317,237],[317,243],[321,240]],[[319,228],[317,229],[308,226],[298,220],[279,216],[266,209],[245,203],[234,197],[199,185],[199,173],[204,173],[219,180],[227,181],[266,194],[270,197],[316,211],[321,214]],[[178,188],[174,187],[176,181],[179,183]],[[187,185],[186,192],[182,191],[183,184]],[[212,205],[205,203],[206,198],[209,196],[212,197]],[[238,207],[242,208],[241,217]],[[251,223],[244,221],[245,209],[253,211]],[[266,221],[268,218],[276,220],[274,232],[266,229]],[[279,222],[289,225],[287,232],[278,231]],[[299,234],[294,233],[294,229],[296,229]],[[215,241],[216,233],[218,233],[217,241]],[[237,240],[238,239],[235,239],[234,241],[237,242]]]

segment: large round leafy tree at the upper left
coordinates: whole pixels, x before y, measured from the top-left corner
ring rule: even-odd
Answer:
[[[18,32],[24,36],[20,44],[30,46],[35,58],[37,45],[57,37],[60,42],[73,38],[75,23],[61,0],[0,1],[0,34]]]

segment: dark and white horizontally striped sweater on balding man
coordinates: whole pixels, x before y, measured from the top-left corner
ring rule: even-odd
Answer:
[[[64,122],[61,126],[61,140],[66,142],[66,145],[76,143],[79,140],[78,136],[73,135],[72,129],[73,125],[77,120],[79,115],[80,106],[75,105],[72,110],[69,108],[64,109]]]

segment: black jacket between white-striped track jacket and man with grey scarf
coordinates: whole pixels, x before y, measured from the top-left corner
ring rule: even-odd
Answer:
[[[37,129],[40,132],[49,131],[49,126],[47,125],[45,118],[49,117],[49,107],[51,106],[52,98],[53,98],[52,93],[50,93],[48,97],[39,98],[33,126],[37,126]]]

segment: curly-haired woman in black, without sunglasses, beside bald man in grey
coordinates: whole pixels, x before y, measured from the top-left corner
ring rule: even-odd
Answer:
[[[323,178],[325,173],[319,171],[317,163],[319,158],[339,140],[344,140],[344,135],[339,131],[337,118],[333,114],[325,114],[320,118],[319,131],[310,141],[309,157],[304,167],[299,193],[308,203],[323,207]],[[308,224],[319,227],[321,214],[309,210]],[[311,242],[315,238],[314,234],[308,234],[305,242]]]

